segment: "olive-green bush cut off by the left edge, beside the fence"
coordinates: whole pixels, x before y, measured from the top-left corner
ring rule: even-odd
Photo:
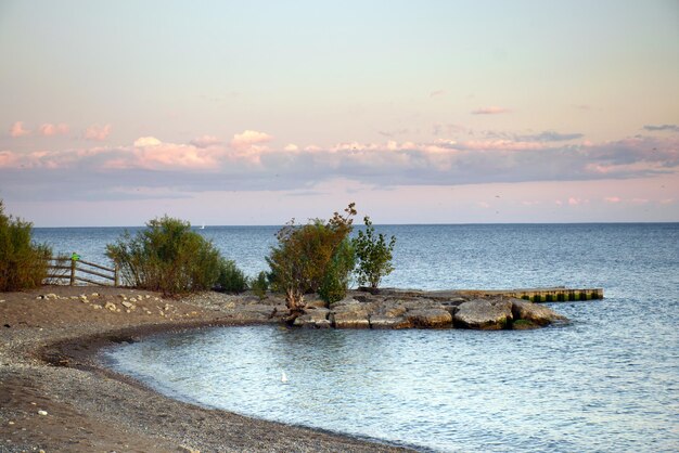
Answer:
[[[47,277],[50,247],[31,242],[33,224],[7,216],[0,199],[0,292],[39,286]]]

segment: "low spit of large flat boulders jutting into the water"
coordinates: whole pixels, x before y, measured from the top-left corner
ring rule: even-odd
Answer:
[[[204,297],[204,296],[203,296]],[[216,301],[217,302],[217,301]],[[379,294],[353,290],[328,305],[307,297],[294,320],[280,296],[258,299],[231,296],[219,306],[226,316],[245,322],[289,322],[300,328],[473,328],[485,331],[538,328],[568,320],[542,305],[501,295],[459,292],[383,289]]]

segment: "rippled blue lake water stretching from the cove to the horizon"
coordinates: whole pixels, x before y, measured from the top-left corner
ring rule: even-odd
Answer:
[[[256,275],[278,229],[195,231]],[[563,285],[605,298],[549,303],[571,323],[537,331],[208,328],[102,360],[171,398],[420,451],[679,451],[679,223],[376,229],[397,240],[383,286]],[[107,264],[124,231],[34,238]]]

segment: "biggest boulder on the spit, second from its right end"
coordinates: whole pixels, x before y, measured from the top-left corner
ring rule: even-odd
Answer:
[[[461,303],[453,315],[456,326],[498,331],[505,328],[513,320],[510,300],[474,299]]]

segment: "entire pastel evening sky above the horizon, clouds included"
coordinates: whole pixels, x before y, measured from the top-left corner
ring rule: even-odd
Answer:
[[[679,1],[0,0],[36,226],[679,221]]]

